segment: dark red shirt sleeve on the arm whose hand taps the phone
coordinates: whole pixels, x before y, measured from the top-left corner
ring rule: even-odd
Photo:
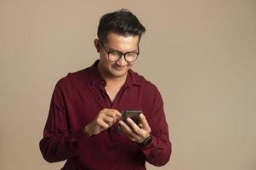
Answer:
[[[89,137],[81,129],[72,131],[68,127],[65,100],[57,83],[51,99],[48,119],[40,141],[43,158],[48,162],[64,161],[77,156],[82,141]]]

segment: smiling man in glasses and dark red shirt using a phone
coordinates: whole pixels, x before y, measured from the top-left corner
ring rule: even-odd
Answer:
[[[94,45],[100,59],[69,73],[54,88],[40,150],[62,169],[145,169],[171,155],[168,124],[156,86],[131,68],[145,27],[126,9],[100,19]],[[121,120],[139,110],[138,125]]]

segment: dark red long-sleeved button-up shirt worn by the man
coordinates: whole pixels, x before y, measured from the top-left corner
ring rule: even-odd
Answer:
[[[54,88],[40,150],[46,161],[64,161],[62,169],[145,169],[166,164],[171,155],[168,124],[156,86],[132,70],[111,102],[105,81],[94,65],[69,73]],[[151,127],[152,140],[145,147],[117,131],[117,124],[88,137],[82,127],[104,109],[141,110]]]

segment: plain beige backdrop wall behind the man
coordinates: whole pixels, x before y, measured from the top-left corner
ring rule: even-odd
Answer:
[[[54,85],[92,65],[100,16],[120,8],[146,27],[134,70],[165,101],[173,155],[160,169],[255,170],[254,0],[0,0],[0,169],[63,165],[38,147]]]

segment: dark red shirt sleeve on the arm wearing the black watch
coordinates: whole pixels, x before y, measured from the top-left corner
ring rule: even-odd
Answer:
[[[163,101],[161,94],[156,90],[154,97],[154,108],[149,117],[151,126],[151,143],[142,147],[146,161],[155,166],[165,165],[171,156],[172,144],[169,140],[168,123],[163,111]]]

